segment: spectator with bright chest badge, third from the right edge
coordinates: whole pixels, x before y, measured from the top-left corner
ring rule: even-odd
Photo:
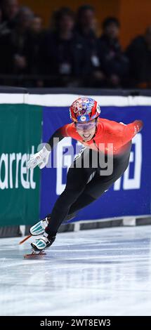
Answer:
[[[85,86],[101,87],[105,84],[103,73],[98,56],[98,38],[96,32],[96,15],[93,6],[83,5],[77,11],[77,33],[84,39],[88,48],[89,58],[89,79]]]

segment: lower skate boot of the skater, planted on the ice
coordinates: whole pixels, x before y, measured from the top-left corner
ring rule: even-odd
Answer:
[[[31,243],[31,246],[34,251],[40,252],[51,246],[54,240],[55,240],[55,236],[50,237],[46,232],[44,232],[44,235],[36,239],[33,243]]]

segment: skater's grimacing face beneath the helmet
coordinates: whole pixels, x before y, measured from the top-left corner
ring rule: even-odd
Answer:
[[[96,133],[96,119],[86,123],[76,123],[76,130],[84,141],[89,141]]]

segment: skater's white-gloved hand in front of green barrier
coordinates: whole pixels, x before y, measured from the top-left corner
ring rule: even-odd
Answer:
[[[27,169],[34,169],[37,165],[40,169],[44,169],[44,166],[48,163],[50,151],[43,147],[39,152],[30,157],[27,161]]]

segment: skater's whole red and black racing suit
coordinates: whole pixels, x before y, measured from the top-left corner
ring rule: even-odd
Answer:
[[[53,138],[62,140],[64,137],[70,136],[81,142],[84,145],[84,149],[70,166],[67,172],[65,190],[60,194],[53,206],[50,215],[51,220],[46,228],[48,237],[55,236],[60,224],[67,216],[98,199],[103,192],[108,190],[122,176],[129,165],[131,139],[142,127],[143,122],[140,120],[124,125],[116,121],[99,118],[96,133],[88,142],[84,142],[81,136],[79,136],[74,123],[67,124],[55,131],[48,141],[51,148],[54,147]],[[112,150],[110,150],[110,147],[112,147]],[[97,166],[93,166],[93,157],[98,157],[101,153],[104,154],[106,160],[107,157],[109,160],[110,157],[112,159],[113,169],[109,175],[100,175],[101,164],[99,161]],[[84,166],[84,164],[88,163],[89,166]]]

